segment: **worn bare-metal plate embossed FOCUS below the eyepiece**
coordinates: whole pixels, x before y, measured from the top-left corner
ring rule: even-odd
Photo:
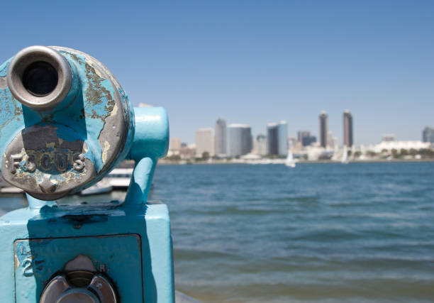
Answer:
[[[6,147],[1,162],[4,179],[38,199],[57,199],[96,173],[84,141],[63,141],[55,126],[30,126]],[[41,140],[40,138],[43,138]]]

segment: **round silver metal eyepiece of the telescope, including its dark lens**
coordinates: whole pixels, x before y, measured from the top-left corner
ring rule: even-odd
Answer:
[[[30,46],[11,60],[7,74],[13,97],[32,109],[54,108],[67,96],[72,83],[72,70],[57,50]]]

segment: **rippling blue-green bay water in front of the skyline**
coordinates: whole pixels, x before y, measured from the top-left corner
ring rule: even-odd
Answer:
[[[434,162],[158,165],[150,199],[202,302],[434,302]]]

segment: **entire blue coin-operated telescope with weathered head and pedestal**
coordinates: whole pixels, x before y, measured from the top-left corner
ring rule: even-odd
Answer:
[[[29,207],[0,218],[0,302],[173,302],[169,216],[147,202],[165,109],[130,106],[77,50],[32,46],[0,66],[0,165]],[[125,202],[57,204],[135,160]]]

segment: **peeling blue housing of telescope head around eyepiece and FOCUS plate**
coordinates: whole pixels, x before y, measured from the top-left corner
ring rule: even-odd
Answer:
[[[6,147],[23,128],[33,125],[55,126],[58,138],[70,142],[84,141],[89,148],[84,157],[94,163],[96,177],[78,187],[79,191],[101,180],[104,172],[116,167],[126,157],[133,141],[134,116],[126,93],[110,72],[104,70],[104,66],[100,66],[94,58],[79,51],[53,48],[67,59],[72,69],[71,89],[58,106],[45,111],[36,111],[24,106],[12,96],[8,87],[0,89],[0,155],[4,154]],[[1,65],[0,75],[6,75],[9,62],[11,59]],[[122,108],[118,106],[116,99],[121,100]],[[117,111],[121,111],[126,119],[126,133],[121,134],[122,137],[125,136],[125,142],[121,153],[111,158],[107,164],[104,162],[103,146],[99,138],[106,119]],[[2,160],[3,157],[0,156],[0,165]],[[68,171],[80,180],[82,172],[74,172],[71,166]],[[52,174],[51,180],[62,182],[56,174]]]

